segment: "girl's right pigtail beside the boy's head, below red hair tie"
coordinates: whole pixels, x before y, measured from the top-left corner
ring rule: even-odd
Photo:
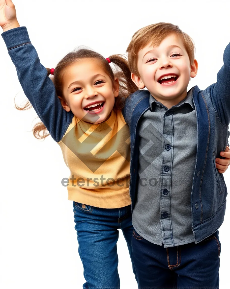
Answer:
[[[139,90],[139,88],[132,81],[128,60],[124,55],[114,54],[109,57],[109,60],[115,66],[114,77],[119,80],[119,95],[115,98],[114,109],[121,110],[125,106],[126,98],[136,90]]]

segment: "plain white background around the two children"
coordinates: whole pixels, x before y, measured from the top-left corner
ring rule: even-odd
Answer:
[[[104,57],[125,53],[136,30],[171,22],[195,41],[199,70],[188,89],[194,85],[204,89],[216,82],[230,41],[229,1],[14,0],[14,4],[20,25],[27,27],[42,64],[50,68],[79,45]],[[2,38],[0,52],[0,287],[82,288],[85,281],[72,201],[61,185],[69,170],[51,136],[39,141],[30,132],[39,121],[34,120],[35,111],[14,108],[15,96],[18,104],[26,97]],[[224,174],[228,189],[229,176],[230,168]],[[220,289],[227,288],[229,281],[228,219],[227,202],[225,221],[219,229]],[[117,247],[121,289],[137,288],[121,231]]]

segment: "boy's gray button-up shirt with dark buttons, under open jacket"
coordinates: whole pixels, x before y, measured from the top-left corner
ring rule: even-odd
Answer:
[[[191,191],[197,155],[192,89],[170,109],[152,95],[139,122],[139,184],[134,229],[164,247],[194,242]]]

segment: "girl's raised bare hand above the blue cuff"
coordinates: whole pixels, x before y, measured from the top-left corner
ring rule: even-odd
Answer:
[[[11,0],[0,0],[0,26],[4,32],[20,26]]]

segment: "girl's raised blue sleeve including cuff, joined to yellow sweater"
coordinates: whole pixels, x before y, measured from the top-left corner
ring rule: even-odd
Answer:
[[[10,29],[1,36],[16,67],[18,80],[26,97],[52,138],[60,141],[74,115],[62,108],[55,86],[31,44],[27,28],[23,26]]]

